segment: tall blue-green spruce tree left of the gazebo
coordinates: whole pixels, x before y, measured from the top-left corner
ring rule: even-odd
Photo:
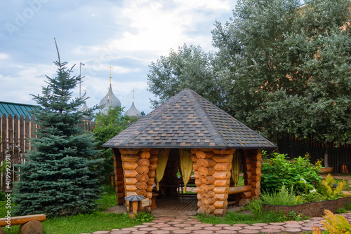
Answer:
[[[56,43],[56,41],[55,41]],[[57,44],[56,44],[57,48]],[[67,62],[54,62],[57,76],[48,78],[42,95],[32,95],[39,104],[33,111],[39,128],[31,139],[34,150],[20,167],[20,181],[15,183],[16,214],[60,216],[89,212],[100,196],[101,159],[92,159],[98,150],[91,132],[78,127],[83,115],[78,111],[84,98],[72,99],[72,90],[80,81],[71,76]]]

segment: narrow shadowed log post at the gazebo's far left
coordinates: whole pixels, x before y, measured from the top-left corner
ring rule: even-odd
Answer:
[[[118,149],[112,149],[114,165],[114,188],[116,190],[117,205],[124,204],[124,175],[122,168],[121,153]]]

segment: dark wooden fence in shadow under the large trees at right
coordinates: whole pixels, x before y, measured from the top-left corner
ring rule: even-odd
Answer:
[[[351,172],[351,145],[334,143],[329,145],[329,167],[333,167],[333,173],[341,173],[343,165],[347,165]],[[289,158],[298,158],[298,156],[305,156],[305,153],[310,153],[311,163],[316,163],[318,159],[324,159],[326,144],[313,142],[312,139],[301,140],[288,136],[278,140],[278,149],[280,153],[286,153]]]

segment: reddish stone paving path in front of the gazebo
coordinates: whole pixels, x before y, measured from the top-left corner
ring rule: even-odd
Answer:
[[[341,214],[350,222],[351,213]],[[315,217],[304,221],[286,221],[284,223],[248,224],[209,224],[200,223],[194,216],[159,216],[150,223],[143,223],[133,228],[96,231],[92,234],[166,234],[166,233],[303,233],[312,231],[312,226],[321,230],[323,218]],[[87,233],[81,233],[87,234]],[[90,234],[90,233],[89,233]]]

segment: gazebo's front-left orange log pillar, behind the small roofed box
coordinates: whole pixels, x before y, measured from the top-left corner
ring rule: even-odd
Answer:
[[[158,149],[119,149],[124,176],[124,195],[152,198]],[[151,207],[145,207],[150,212]]]

